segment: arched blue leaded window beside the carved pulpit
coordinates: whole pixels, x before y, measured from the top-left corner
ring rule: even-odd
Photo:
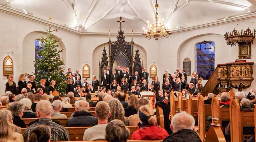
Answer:
[[[214,71],[214,47],[211,41],[196,44],[196,71],[203,80],[208,80]]]

